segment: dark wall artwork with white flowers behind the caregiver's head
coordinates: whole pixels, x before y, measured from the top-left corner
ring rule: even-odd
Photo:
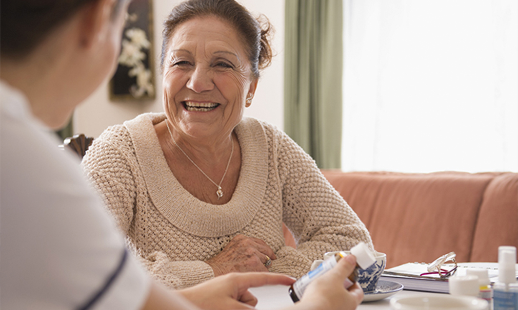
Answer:
[[[155,98],[152,0],[133,0],[122,33],[117,71],[109,85],[110,100]]]

